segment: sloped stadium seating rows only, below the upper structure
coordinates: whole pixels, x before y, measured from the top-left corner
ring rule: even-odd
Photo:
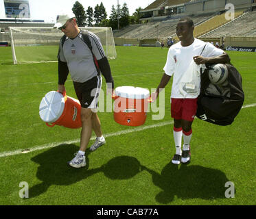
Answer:
[[[179,18],[153,21],[147,24],[130,25],[114,33],[114,37],[166,39],[176,35]],[[235,11],[235,19],[228,21],[224,12],[192,15],[195,24],[194,36],[197,38],[220,38],[222,36],[256,36],[256,11]],[[246,25],[245,25],[246,24]]]

